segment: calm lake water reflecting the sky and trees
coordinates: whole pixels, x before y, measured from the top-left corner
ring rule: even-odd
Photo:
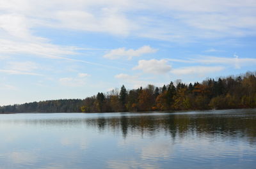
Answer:
[[[0,168],[256,168],[256,110],[1,114]]]

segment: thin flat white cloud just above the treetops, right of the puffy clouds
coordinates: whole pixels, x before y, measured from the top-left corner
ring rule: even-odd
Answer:
[[[223,66],[188,66],[183,68],[176,68],[171,71],[175,75],[205,75],[207,73],[214,73],[216,71],[222,71]]]

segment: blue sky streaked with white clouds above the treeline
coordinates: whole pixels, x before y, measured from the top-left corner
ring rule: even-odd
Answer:
[[[256,0],[1,0],[0,106],[256,71]]]

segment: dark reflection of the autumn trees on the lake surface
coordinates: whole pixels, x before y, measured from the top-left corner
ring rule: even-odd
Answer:
[[[221,138],[248,138],[251,143],[256,141],[256,114],[232,113],[216,114],[120,114],[120,116],[84,119],[86,125],[97,126],[100,131],[111,129],[116,132],[121,129],[125,138],[127,135],[140,133],[155,136],[164,132],[173,139],[186,135],[207,135]]]

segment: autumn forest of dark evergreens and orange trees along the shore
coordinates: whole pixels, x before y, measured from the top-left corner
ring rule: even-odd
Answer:
[[[256,108],[256,71],[243,75],[207,78],[185,84],[181,80],[156,87],[128,90],[122,85],[85,99],[58,99],[7,105],[0,113],[22,112],[144,112]]]

